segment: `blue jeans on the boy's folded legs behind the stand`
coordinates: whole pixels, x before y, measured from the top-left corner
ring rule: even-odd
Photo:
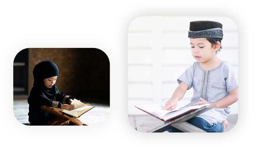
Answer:
[[[187,120],[186,122],[188,122],[198,128],[201,128],[202,130],[206,131],[207,133],[221,133],[224,129],[224,125],[221,123],[210,125],[206,120],[204,120],[203,118],[199,118],[199,117],[194,117],[192,119]],[[167,131],[170,133],[184,133],[174,127]]]

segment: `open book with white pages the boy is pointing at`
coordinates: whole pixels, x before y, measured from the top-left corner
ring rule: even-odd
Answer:
[[[135,106],[135,107],[162,120],[162,121],[168,122],[174,118],[178,118],[179,116],[187,114],[188,112],[191,112],[193,110],[196,110],[196,109],[201,108],[206,105],[210,105],[210,104],[190,106],[190,107],[182,108],[180,110],[171,110],[171,111],[161,110],[162,108],[164,108],[164,106],[161,106],[159,104],[139,105],[139,106]]]

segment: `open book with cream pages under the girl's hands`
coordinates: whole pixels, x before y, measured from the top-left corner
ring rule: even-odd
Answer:
[[[91,106],[91,105],[86,105],[76,99],[74,99],[71,102],[71,105],[74,105],[74,109],[73,110],[64,110],[64,109],[58,109],[59,111],[67,114],[68,116],[71,117],[80,117],[82,114],[88,112],[89,110],[91,110],[92,108],[94,108],[95,106]]]

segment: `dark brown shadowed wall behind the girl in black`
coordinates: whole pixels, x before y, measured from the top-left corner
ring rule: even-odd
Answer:
[[[32,73],[34,66],[42,61],[51,60],[59,68],[59,77],[56,81],[59,91],[73,98],[109,104],[110,62],[105,52],[97,48],[29,48],[29,50],[31,86],[34,80]]]

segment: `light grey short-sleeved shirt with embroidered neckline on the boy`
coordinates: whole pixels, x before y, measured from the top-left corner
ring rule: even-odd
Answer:
[[[204,70],[199,62],[195,62],[177,79],[188,85],[188,89],[193,86],[194,93],[191,102],[182,108],[194,106],[194,103],[204,100],[213,103],[228,95],[228,92],[238,87],[238,72],[229,63],[222,61],[221,64],[212,69]],[[200,105],[200,104],[199,104]],[[181,108],[180,108],[181,109]],[[211,109],[197,117],[203,118],[210,125],[222,123],[231,112],[229,107]]]

